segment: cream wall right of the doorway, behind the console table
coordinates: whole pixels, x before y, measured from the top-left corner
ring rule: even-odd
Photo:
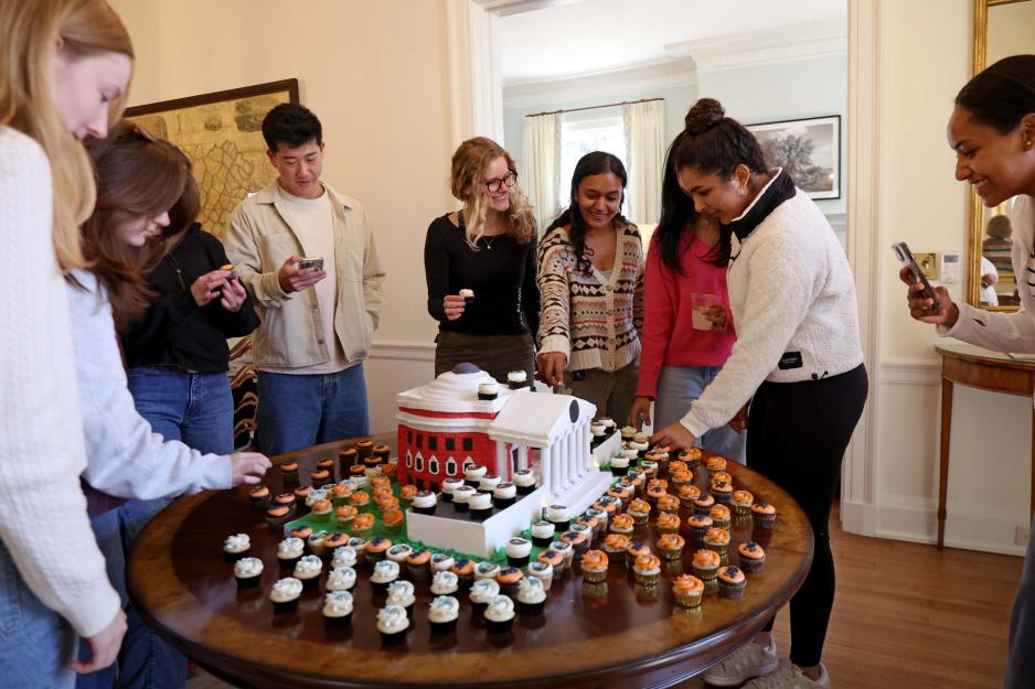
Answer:
[[[952,99],[970,77],[971,0],[878,0],[879,310],[877,534],[932,540],[938,498],[940,359],[933,327],[913,321],[890,245],[964,251],[965,185],[946,141]],[[953,299],[962,283],[948,286]],[[873,373],[873,372],[872,372]],[[1028,523],[1032,400],[956,388],[947,542],[1020,552]]]

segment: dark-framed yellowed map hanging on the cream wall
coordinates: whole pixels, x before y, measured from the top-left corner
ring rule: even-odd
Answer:
[[[281,103],[298,103],[298,79],[135,106],[126,108],[126,117],[186,153],[201,187],[198,220],[223,237],[241,200],[277,176],[266,159],[262,125]]]

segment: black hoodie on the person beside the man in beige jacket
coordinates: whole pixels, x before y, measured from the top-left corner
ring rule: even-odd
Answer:
[[[252,298],[246,297],[241,310],[231,313],[218,297],[199,306],[191,294],[194,280],[227,263],[220,240],[195,223],[147,277],[158,299],[119,333],[129,367],[175,366],[203,374],[230,368],[226,338],[243,337],[259,324]]]

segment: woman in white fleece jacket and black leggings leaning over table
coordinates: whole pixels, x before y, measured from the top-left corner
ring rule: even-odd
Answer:
[[[727,283],[737,342],[683,419],[652,439],[689,446],[750,401],[747,465],[799,504],[815,539],[791,599],[790,657],[777,660],[772,621],[704,676],[719,687],[830,686],[821,663],[834,599],[828,521],[841,461],[866,402],[855,286],[844,250],[786,170],[768,170],[755,137],[711,98],[686,115],[672,165],[697,213],[739,240]],[[754,397],[753,397],[754,396]]]

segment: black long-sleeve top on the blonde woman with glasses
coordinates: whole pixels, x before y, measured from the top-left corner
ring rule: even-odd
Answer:
[[[424,272],[428,283],[428,313],[439,330],[473,335],[516,335],[538,331],[540,290],[535,283],[535,238],[519,244],[510,235],[482,237],[476,251],[465,230],[437,217],[424,244]],[[442,298],[462,289],[474,291],[474,302],[456,321],[446,317]]]

